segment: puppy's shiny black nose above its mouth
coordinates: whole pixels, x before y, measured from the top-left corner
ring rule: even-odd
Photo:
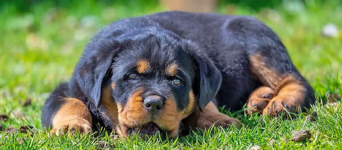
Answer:
[[[151,114],[155,114],[156,112],[162,109],[163,101],[160,96],[147,96],[144,99],[144,105],[148,112],[150,112]]]

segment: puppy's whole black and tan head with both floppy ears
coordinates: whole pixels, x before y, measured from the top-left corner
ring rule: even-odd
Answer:
[[[202,110],[220,87],[213,63],[172,32],[144,28],[97,43],[81,57],[77,82],[121,137],[176,137],[181,120]]]

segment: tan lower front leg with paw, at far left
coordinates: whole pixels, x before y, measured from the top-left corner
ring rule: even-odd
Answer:
[[[78,99],[66,98],[52,119],[51,134],[64,134],[67,131],[88,133],[91,126],[92,117],[87,106]]]

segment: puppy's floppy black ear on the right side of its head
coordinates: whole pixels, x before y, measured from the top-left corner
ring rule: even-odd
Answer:
[[[215,98],[221,86],[222,76],[214,63],[205,54],[201,54],[196,45],[188,46],[188,52],[194,57],[197,70],[195,77],[197,82],[194,83],[193,88],[196,88],[198,107],[202,111]]]

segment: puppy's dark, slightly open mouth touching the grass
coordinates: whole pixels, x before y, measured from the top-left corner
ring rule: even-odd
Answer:
[[[159,134],[160,137],[164,138],[166,137],[166,132],[165,131],[162,131],[160,129],[160,127],[154,123],[154,122],[148,122],[142,126],[139,126],[139,127],[134,127],[132,129],[130,129],[128,131],[128,133],[130,135],[133,135],[133,134],[140,134],[141,137],[144,137],[144,136],[153,136],[155,134]]]

